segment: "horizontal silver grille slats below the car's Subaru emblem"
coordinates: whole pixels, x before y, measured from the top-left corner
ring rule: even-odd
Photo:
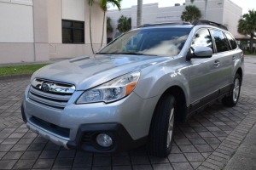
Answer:
[[[50,81],[47,82],[49,83]],[[60,83],[58,85],[60,86]],[[67,84],[63,84],[62,87],[67,87]],[[28,93],[28,99],[32,102],[59,111],[65,108],[71,96],[71,93],[44,92],[41,88],[34,87],[33,84]]]

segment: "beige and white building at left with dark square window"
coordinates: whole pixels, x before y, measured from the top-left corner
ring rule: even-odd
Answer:
[[[98,50],[103,22],[99,0],[91,11],[93,46]],[[0,0],[0,23],[0,63],[92,54],[87,0]]]

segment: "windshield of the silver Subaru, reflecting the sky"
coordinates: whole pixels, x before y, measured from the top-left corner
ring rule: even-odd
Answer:
[[[128,31],[108,43],[97,54],[143,54],[175,56],[186,42],[191,28],[154,28]]]

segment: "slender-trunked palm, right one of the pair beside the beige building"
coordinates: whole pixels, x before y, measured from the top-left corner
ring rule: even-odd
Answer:
[[[102,8],[104,15],[103,15],[103,28],[102,28],[102,42],[103,42],[103,37],[104,37],[104,26],[105,26],[105,15],[106,12],[108,11],[108,3],[111,3],[113,7],[117,6],[119,10],[121,10],[121,1],[122,0],[101,0],[100,7]],[[102,43],[101,43],[102,47]]]

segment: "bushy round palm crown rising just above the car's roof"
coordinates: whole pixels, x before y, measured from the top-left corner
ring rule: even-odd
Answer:
[[[195,7],[195,5],[188,5],[185,7],[183,14],[181,15],[181,19],[184,21],[189,21],[190,23],[193,20],[198,20],[201,18],[201,12],[199,8]]]

